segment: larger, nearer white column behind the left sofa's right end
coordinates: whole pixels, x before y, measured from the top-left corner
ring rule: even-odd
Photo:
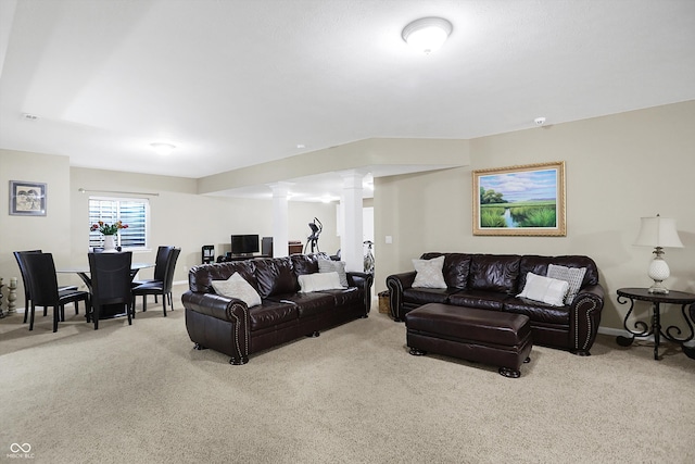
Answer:
[[[343,233],[340,236],[341,259],[345,268],[353,272],[364,271],[364,253],[362,244],[362,179],[365,174],[361,171],[341,173],[343,178],[343,195],[341,213]]]

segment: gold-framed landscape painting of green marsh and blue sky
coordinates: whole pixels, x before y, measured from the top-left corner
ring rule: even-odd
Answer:
[[[565,162],[473,171],[473,235],[567,235]]]

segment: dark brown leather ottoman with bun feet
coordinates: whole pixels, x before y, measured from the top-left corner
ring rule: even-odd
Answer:
[[[500,366],[517,378],[529,362],[531,322],[523,314],[429,303],[405,315],[410,354],[427,352]]]

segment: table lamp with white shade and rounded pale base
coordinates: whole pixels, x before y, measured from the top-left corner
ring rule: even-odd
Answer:
[[[664,286],[664,280],[669,278],[671,271],[664,260],[664,248],[683,248],[683,243],[675,229],[675,220],[670,217],[642,217],[640,235],[635,241],[636,246],[655,247],[654,260],[649,263],[647,275],[654,285],[649,287],[649,293],[668,293]]]

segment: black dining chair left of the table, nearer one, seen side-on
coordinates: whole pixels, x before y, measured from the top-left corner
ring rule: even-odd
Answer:
[[[53,306],[53,331],[58,331],[59,319],[65,321],[65,304],[74,303],[75,314],[78,314],[78,302],[84,301],[89,311],[89,292],[59,289],[51,253],[26,253],[23,261],[29,277],[29,330],[34,330],[36,306]]]

